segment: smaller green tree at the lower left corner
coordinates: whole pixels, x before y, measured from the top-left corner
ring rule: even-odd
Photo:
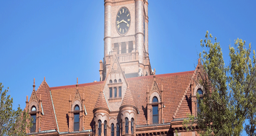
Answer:
[[[25,110],[22,111],[20,106],[18,110],[12,109],[13,99],[7,95],[8,89],[2,91],[4,86],[0,83],[0,136],[25,136],[26,128],[32,126],[30,116]]]

